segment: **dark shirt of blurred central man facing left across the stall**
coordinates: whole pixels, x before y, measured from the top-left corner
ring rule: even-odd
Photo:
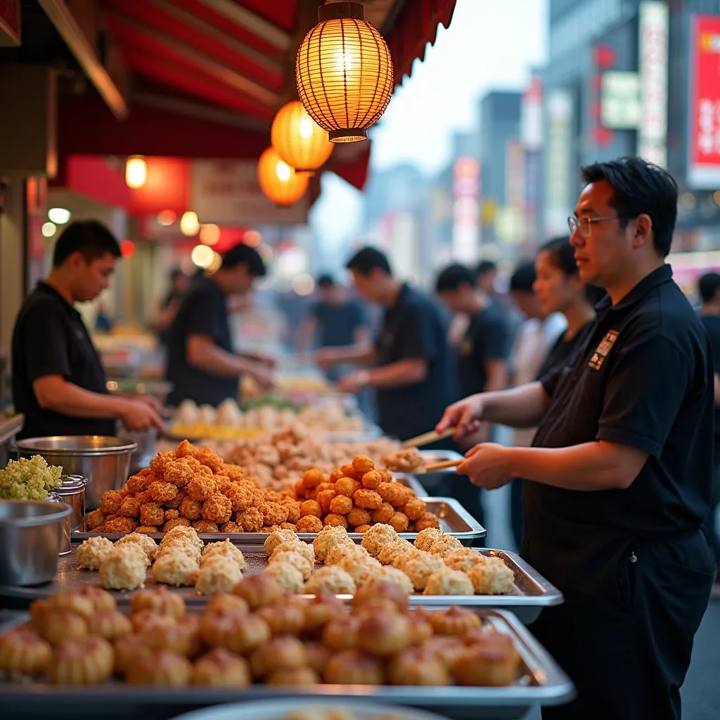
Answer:
[[[426,359],[423,382],[377,390],[379,424],[387,435],[406,440],[436,426],[456,399],[447,328],[426,295],[402,285],[395,305],[385,310],[376,343],[377,364]]]

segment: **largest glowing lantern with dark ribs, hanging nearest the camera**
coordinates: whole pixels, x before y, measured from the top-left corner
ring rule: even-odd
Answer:
[[[366,140],[392,95],[390,50],[359,2],[320,6],[318,21],[295,58],[300,100],[330,142]]]

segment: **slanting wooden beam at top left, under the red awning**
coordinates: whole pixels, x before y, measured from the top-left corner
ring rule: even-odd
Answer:
[[[125,93],[100,62],[91,40],[81,30],[65,0],[37,1],[112,114],[117,120],[125,120],[129,112]]]

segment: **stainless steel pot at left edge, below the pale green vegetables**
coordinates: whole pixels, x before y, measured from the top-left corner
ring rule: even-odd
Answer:
[[[47,500],[0,503],[0,585],[39,585],[55,577],[71,512]]]

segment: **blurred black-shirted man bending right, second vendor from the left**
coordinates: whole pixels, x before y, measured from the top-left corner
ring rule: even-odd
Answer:
[[[258,251],[240,243],[222,256],[215,274],[194,283],[168,334],[169,405],[194,400],[217,406],[228,398],[237,400],[243,374],[264,389],[273,386],[271,361],[233,353],[228,310],[230,296],[247,294],[265,274]]]

